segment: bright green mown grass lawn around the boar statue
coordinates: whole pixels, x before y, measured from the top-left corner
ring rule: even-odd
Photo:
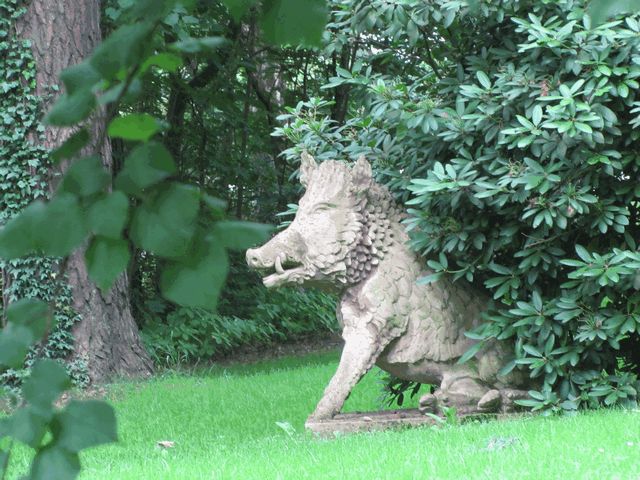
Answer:
[[[86,480],[640,479],[640,413],[523,418],[318,440],[303,424],[337,353],[109,387],[120,442],[82,454]],[[377,409],[374,372],[346,410]],[[276,422],[287,422],[290,434]],[[161,449],[159,440],[175,446]],[[24,472],[15,452],[12,476]]]

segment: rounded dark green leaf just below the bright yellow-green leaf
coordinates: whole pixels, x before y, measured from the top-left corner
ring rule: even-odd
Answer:
[[[164,145],[144,143],[134,148],[125,159],[124,168],[116,178],[116,187],[130,194],[139,194],[176,171],[171,153]]]

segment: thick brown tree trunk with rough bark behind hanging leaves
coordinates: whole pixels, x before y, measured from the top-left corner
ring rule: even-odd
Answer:
[[[41,98],[49,98],[43,105],[43,111],[47,111],[53,100],[51,86],[59,85],[60,71],[82,61],[101,41],[100,2],[32,0],[26,14],[19,20],[17,30],[22,38],[31,40],[37,69],[36,91]],[[99,138],[105,128],[104,113],[97,113],[89,127],[93,138]],[[40,143],[48,149],[54,148],[69,133],[69,129],[47,128]],[[109,141],[104,143],[99,153],[103,164],[111,170],[113,160]],[[63,164],[51,169],[52,189],[67,167]],[[102,382],[115,376],[150,374],[151,361],[142,347],[131,314],[126,274],[115,282],[108,294],[103,295],[89,280],[84,248],[69,257],[67,274],[73,292],[73,306],[81,316],[73,331],[74,355],[87,362],[91,380]]]

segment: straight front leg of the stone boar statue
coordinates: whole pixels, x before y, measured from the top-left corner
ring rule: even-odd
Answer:
[[[343,336],[345,345],[338,370],[331,378],[309,420],[326,420],[340,413],[353,387],[371,369],[380,352],[388,344],[388,342],[381,343],[379,339],[374,339],[367,331],[353,332]]]

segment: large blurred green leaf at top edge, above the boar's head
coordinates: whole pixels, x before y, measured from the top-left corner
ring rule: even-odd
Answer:
[[[260,23],[268,42],[320,46],[328,13],[325,0],[265,0]]]

